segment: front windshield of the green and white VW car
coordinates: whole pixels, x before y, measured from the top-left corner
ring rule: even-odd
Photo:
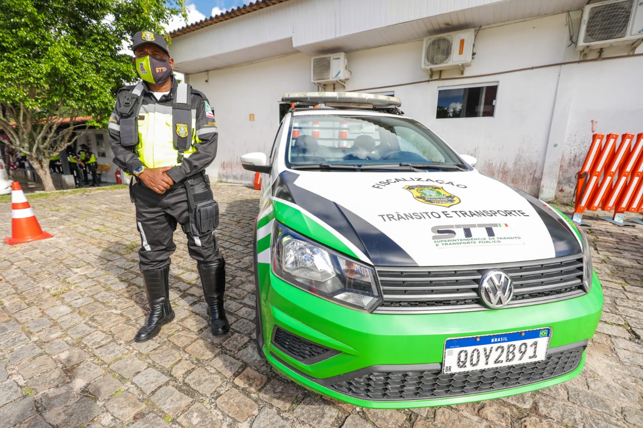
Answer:
[[[451,148],[421,123],[408,118],[293,116],[289,132],[286,160],[293,168],[356,165],[372,170],[372,166],[402,164],[464,169]]]

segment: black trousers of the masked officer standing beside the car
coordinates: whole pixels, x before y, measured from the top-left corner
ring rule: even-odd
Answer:
[[[203,190],[205,183],[197,184],[196,191]],[[177,224],[190,230],[188,222],[188,197],[185,187],[179,186],[159,195],[136,182],[131,187],[136,206],[136,225],[141,234],[141,248],[138,251],[141,272],[163,269],[170,265],[170,256],[176,249],[174,231]],[[213,263],[223,259],[214,233],[188,238],[188,253],[197,263]]]

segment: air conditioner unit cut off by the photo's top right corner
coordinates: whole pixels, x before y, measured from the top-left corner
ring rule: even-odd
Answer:
[[[643,3],[610,0],[583,8],[576,49],[598,49],[643,38]],[[640,42],[639,42],[640,43]]]

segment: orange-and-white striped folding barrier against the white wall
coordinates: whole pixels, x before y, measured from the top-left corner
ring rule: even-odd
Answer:
[[[582,224],[585,210],[615,210],[613,217],[602,216],[619,226],[633,226],[624,222],[624,213],[643,211],[643,133],[594,134],[581,171],[577,174],[574,220]],[[637,219],[629,219],[640,222]],[[643,222],[640,222],[643,224]]]

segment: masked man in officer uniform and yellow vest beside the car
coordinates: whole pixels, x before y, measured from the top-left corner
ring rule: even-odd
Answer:
[[[217,123],[206,96],[172,76],[174,58],[161,35],[138,31],[132,51],[142,82],[118,92],[109,118],[109,143],[114,163],[136,177],[130,195],[150,314],[134,341],[147,341],[174,319],[168,273],[177,224],[197,262],[210,330],[225,334],[230,330],[223,308],[225,262],[213,233],[219,213],[204,174],[217,154]]]

